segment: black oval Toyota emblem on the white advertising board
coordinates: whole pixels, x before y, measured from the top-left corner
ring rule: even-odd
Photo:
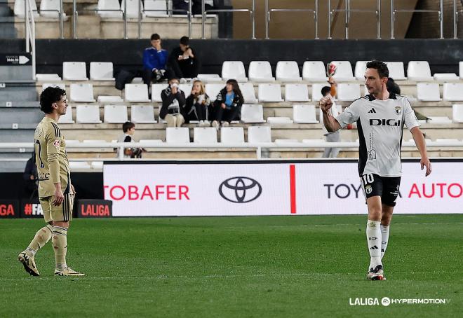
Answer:
[[[248,177],[233,177],[220,184],[219,193],[227,201],[246,203],[259,198],[262,186]]]

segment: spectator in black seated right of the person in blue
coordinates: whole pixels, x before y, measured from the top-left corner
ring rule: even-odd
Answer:
[[[189,46],[188,36],[180,38],[180,46],[169,55],[168,67],[172,76],[180,78],[180,83],[187,83],[185,78],[195,78],[199,73],[199,60]]]

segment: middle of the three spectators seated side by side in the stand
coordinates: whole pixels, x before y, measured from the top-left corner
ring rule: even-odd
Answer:
[[[199,120],[200,127],[209,127],[210,99],[206,94],[203,82],[193,82],[192,92],[187,97],[187,122]]]

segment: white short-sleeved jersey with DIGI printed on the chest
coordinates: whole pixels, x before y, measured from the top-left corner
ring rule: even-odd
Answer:
[[[344,128],[357,123],[358,174],[401,177],[403,125],[411,130],[420,126],[408,99],[391,94],[389,99],[366,95],[356,99],[336,117]]]

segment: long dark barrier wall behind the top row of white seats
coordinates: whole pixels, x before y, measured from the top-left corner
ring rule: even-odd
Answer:
[[[192,40],[192,47],[201,57],[202,73],[220,74],[225,60],[268,60],[272,67],[280,60],[295,60],[301,67],[307,60],[427,60],[432,73],[458,74],[463,61],[463,40]],[[163,41],[170,50],[175,40]],[[37,40],[37,73],[62,73],[65,61],[107,61],[115,69],[140,67],[148,40]],[[24,40],[0,40],[2,53],[24,50]],[[247,65],[246,65],[247,66]]]

